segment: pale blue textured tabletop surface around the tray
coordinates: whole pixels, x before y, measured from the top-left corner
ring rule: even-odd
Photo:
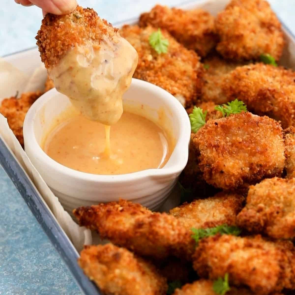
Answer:
[[[80,0],[79,4],[93,7],[101,17],[114,23],[136,17],[156,3],[173,6],[182,2]],[[295,1],[269,2],[283,22],[295,32]],[[1,0],[0,56],[33,47],[41,19],[42,13],[37,7],[22,7],[14,0]],[[1,167],[0,294],[80,294],[71,273]]]

